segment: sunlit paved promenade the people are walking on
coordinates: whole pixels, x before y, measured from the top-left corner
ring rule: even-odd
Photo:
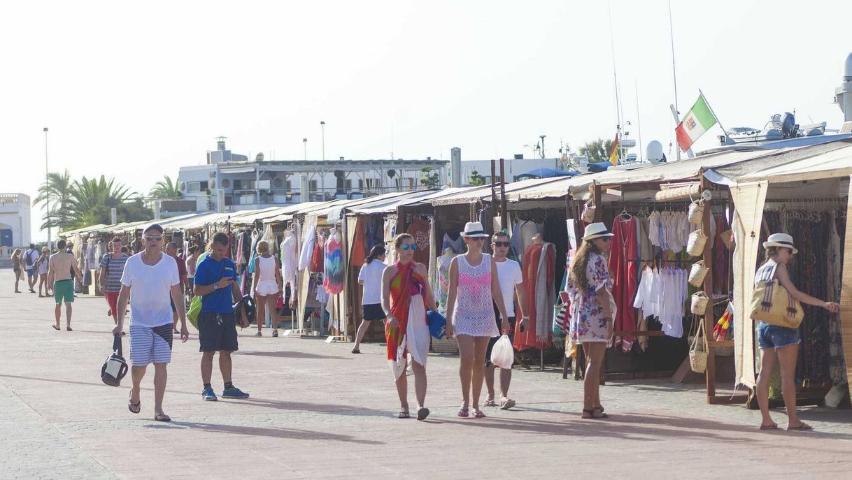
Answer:
[[[849,410],[803,409],[814,432],[762,432],[759,414],[707,405],[699,386],[642,380],[602,387],[611,418],[581,420],[580,382],[516,369],[515,409],[459,419],[458,358],[432,355],[429,420],[398,420],[382,346],[351,355],[351,344],[253,329],[234,356],[234,382],[251,398],[201,400],[190,327],[169,368],[173,421],[159,423],[153,369],[141,414],[127,409],[130,375],[118,388],[101,383],[112,343],[106,300],[79,297],[74,331],[57,332],[53,300],[13,294],[13,284],[0,271],[3,478],[852,477]],[[216,368],[213,385],[221,393]],[[413,382],[410,390],[414,406]],[[786,425],[782,411],[774,419]]]

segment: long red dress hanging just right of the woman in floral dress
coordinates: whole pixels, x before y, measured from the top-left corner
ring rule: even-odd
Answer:
[[[609,274],[613,276],[613,297],[618,311],[615,313],[615,331],[636,330],[636,219],[625,220],[621,215],[613,220],[613,242],[609,250]],[[615,346],[628,352],[636,337],[625,335],[615,339]]]

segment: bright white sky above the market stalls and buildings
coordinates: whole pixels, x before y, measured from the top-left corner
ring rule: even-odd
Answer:
[[[630,133],[674,141],[667,2],[613,0]],[[843,121],[846,2],[674,0],[677,86],[727,127]],[[607,2],[14,2],[0,7],[0,191],[51,170],[147,192],[226,135],[252,157],[511,157],[615,134]],[[639,111],[636,115],[636,88]],[[715,127],[698,147],[715,145]],[[674,148],[674,147],[672,147]],[[673,155],[673,150],[671,151]],[[34,235],[40,212],[33,209]]]

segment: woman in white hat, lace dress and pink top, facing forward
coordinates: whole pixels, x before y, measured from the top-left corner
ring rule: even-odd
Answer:
[[[468,222],[462,232],[468,247],[466,254],[458,255],[450,262],[450,288],[446,299],[446,334],[453,332],[458,339],[460,367],[458,376],[462,380],[462,406],[458,416],[468,417],[470,393],[473,390],[473,415],[481,419],[479,397],[485,379],[485,352],[488,340],[500,334],[494,317],[496,304],[500,311],[504,332],[509,331],[503,294],[497,266],[491,255],[482,253],[482,245],[488,234],[478,221]],[[471,386],[473,387],[471,389]]]

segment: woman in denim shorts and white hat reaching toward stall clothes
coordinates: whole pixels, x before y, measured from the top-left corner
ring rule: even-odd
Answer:
[[[793,299],[800,303],[821,306],[827,311],[837,313],[840,306],[835,302],[823,301],[800,292],[790,280],[786,263],[798,250],[793,246],[793,237],[786,233],[774,233],[766,242],[766,262],[757,269],[755,284],[763,275],[763,271],[774,268],[774,278],[787,289]],[[760,345],[760,374],[757,375],[757,403],[763,421],[761,430],[775,430],[778,424],[769,416],[769,379],[776,364],[781,366],[781,394],[787,409],[787,430],[810,430],[812,427],[799,420],[796,414],[796,362],[798,359],[799,336],[798,329],[789,329],[769,323],[757,323],[757,343]]]

